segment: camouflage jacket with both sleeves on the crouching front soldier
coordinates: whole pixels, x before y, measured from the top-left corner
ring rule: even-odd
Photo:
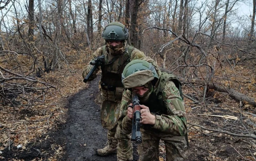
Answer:
[[[152,109],[152,106],[148,106],[149,111],[154,112],[151,112],[151,114],[155,115],[155,125],[142,124],[141,128],[150,132],[164,132],[165,134],[175,136],[185,136],[187,134],[187,114],[185,112],[184,102],[180,97],[180,92],[171,80],[165,81],[160,78],[161,83],[165,84],[163,91],[160,91],[162,97],[158,96],[155,100],[151,100],[151,102],[158,102],[161,105],[155,106],[155,109],[154,107]],[[154,89],[152,94],[157,91],[160,84]],[[132,93],[129,90],[123,92],[120,117],[118,120],[124,133],[127,134],[131,133],[132,129],[132,120],[127,116],[128,105],[132,102],[131,98]],[[156,113],[156,109],[159,110],[159,113]]]

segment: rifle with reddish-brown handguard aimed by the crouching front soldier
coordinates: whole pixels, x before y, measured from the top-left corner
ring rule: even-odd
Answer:
[[[132,141],[136,141],[137,144],[141,144],[141,132],[140,132],[140,101],[139,97],[134,94],[132,97],[133,105],[129,106],[133,108],[133,125],[132,125]]]

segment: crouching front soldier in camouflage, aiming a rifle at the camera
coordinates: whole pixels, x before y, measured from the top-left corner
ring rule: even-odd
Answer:
[[[139,161],[159,160],[159,141],[166,146],[167,161],[181,161],[188,154],[187,115],[181,84],[168,73],[156,72],[143,60],[127,64],[122,73],[123,92],[119,124],[121,131],[131,133],[132,95],[137,94],[141,107],[142,143],[138,144]]]

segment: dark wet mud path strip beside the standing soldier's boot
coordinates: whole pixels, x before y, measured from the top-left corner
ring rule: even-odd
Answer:
[[[100,106],[94,102],[100,94],[99,76],[88,82],[88,88],[76,93],[67,105],[68,120],[59,134],[66,138],[65,161],[116,161],[116,154],[97,156],[95,151],[105,147],[107,130],[101,126]],[[59,136],[61,137],[61,136]]]

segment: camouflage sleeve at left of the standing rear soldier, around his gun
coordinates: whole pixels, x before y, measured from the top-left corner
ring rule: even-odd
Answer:
[[[92,60],[93,59],[95,59],[96,57],[98,57],[98,56],[101,56],[102,55],[102,47],[101,48],[99,48],[99,49],[97,49],[94,53],[93,53],[93,55],[92,55]],[[91,60],[91,61],[92,61]],[[85,78],[87,75],[88,75],[88,73],[90,72],[90,70],[92,70],[92,68],[93,68],[93,65],[90,65],[90,64],[88,64],[84,69],[83,69],[83,72],[82,72],[82,76],[83,76],[83,78]],[[88,79],[88,81],[92,81],[93,79],[95,79],[96,78],[96,74],[97,74],[97,72],[100,70],[100,66],[99,66],[99,68],[97,68],[93,73],[92,73],[92,75],[90,76],[90,78]]]

